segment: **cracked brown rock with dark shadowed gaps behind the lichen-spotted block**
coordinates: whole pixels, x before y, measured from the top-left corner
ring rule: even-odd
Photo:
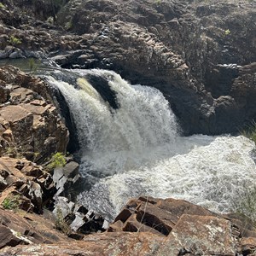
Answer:
[[[183,214],[218,216],[218,214],[210,212],[203,207],[195,206],[188,201],[172,198],[158,200],[150,196],[139,197],[137,200],[131,199],[127,202],[124,209],[115,218],[114,223],[110,225],[108,231],[125,230],[137,232],[151,230],[154,233],[168,236]],[[123,223],[122,225],[119,223],[120,221]],[[115,224],[116,222],[119,224]]]

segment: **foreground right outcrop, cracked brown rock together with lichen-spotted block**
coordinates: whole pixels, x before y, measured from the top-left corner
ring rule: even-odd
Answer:
[[[256,235],[250,221],[236,214],[222,216],[188,201],[152,197],[127,202],[108,232],[122,230],[167,236],[157,255],[244,255]]]

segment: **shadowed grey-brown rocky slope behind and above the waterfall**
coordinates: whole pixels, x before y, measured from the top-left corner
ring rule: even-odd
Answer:
[[[3,1],[0,58],[113,69],[160,89],[184,134],[236,132],[255,119],[252,1],[70,0],[57,15],[48,1],[25,2]],[[22,4],[30,15],[15,11]]]

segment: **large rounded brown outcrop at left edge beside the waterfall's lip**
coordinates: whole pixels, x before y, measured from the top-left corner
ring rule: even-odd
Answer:
[[[43,162],[66,152],[68,131],[44,82],[15,67],[0,68],[0,80],[0,154]]]

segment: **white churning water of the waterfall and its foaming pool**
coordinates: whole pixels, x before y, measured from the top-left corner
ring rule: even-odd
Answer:
[[[88,75],[108,80],[119,108],[102,99]],[[238,191],[253,186],[254,143],[245,137],[179,136],[159,90],[102,70],[53,77],[50,83],[73,114],[83,155],[80,173],[90,185],[79,201],[106,218],[112,220],[137,195],[181,198],[227,212]]]

